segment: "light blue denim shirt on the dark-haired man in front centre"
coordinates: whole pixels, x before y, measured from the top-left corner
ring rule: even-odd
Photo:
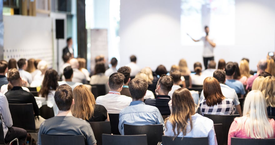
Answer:
[[[155,106],[145,105],[143,101],[132,101],[130,105],[119,113],[118,130],[124,135],[123,124],[129,125],[155,125],[163,124],[163,118]]]

